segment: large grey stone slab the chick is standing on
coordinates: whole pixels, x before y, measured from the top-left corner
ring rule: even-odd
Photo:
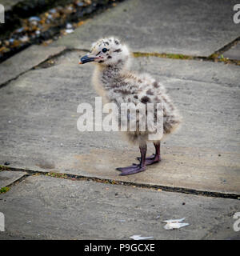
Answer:
[[[31,70],[2,87],[0,162],[31,170],[240,194],[239,66],[134,59],[136,70],[150,71],[164,82],[184,122],[178,134],[162,143],[160,164],[119,177],[114,168],[134,162],[138,148],[128,146],[118,133],[77,130],[78,104],[94,106],[97,96],[90,82],[93,66],[78,66],[79,54],[64,54],[55,60],[56,66]],[[149,154],[152,150],[149,146]]]

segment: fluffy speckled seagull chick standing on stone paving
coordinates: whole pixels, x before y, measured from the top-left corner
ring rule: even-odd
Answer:
[[[126,138],[129,142],[137,144],[141,153],[141,157],[138,158],[139,164],[116,168],[121,171],[120,175],[136,174],[146,170],[146,166],[160,162],[160,141],[166,134],[171,134],[176,130],[182,120],[160,82],[149,74],[137,74],[129,70],[130,57],[130,50],[126,44],[112,37],[94,42],[90,53],[79,61],[79,64],[87,62],[97,64],[93,76],[94,87],[105,102],[115,103],[118,110],[121,109],[122,103],[133,104],[131,106],[146,106],[153,103],[154,108],[152,110],[146,108],[144,114],[147,118],[151,115],[154,122],[161,115],[163,117],[163,136],[157,136],[153,140],[149,138],[149,135],[154,132],[148,123],[145,130],[139,128],[143,122],[146,122],[146,116],[144,117],[141,111],[137,110],[134,119],[136,130],[130,129],[131,112],[128,112],[126,118],[122,115],[119,118],[118,115],[118,123],[121,122],[121,125],[125,123],[127,126],[123,132]],[[148,158],[146,158],[146,142],[153,142],[155,147],[155,154]]]

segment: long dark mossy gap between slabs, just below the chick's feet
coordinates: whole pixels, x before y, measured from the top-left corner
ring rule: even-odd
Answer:
[[[93,181],[111,185],[122,185],[122,186],[131,186],[143,189],[151,189],[156,191],[166,191],[166,192],[176,192],[182,194],[193,194],[193,195],[201,195],[211,198],[230,198],[230,199],[240,199],[240,194],[231,194],[231,193],[223,193],[223,192],[215,192],[215,191],[204,191],[204,190],[194,190],[194,189],[187,189],[182,187],[171,187],[171,186],[158,186],[158,185],[147,185],[138,182],[123,182],[123,181],[114,181],[108,178],[96,178],[96,177],[89,177],[83,176],[78,174],[63,174],[58,172],[48,172],[48,171],[39,171],[39,170],[25,170],[20,168],[8,167],[8,171],[24,171],[27,174],[19,178],[18,180],[12,182],[8,187],[14,186],[18,182],[21,182],[23,179],[32,176],[32,175],[46,175],[53,178],[66,178],[72,181]]]

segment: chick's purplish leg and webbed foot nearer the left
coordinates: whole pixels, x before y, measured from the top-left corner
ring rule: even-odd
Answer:
[[[133,164],[132,166],[127,167],[119,167],[116,168],[117,170],[121,170],[122,173],[120,175],[130,175],[130,174],[137,174],[143,170],[146,170],[146,144],[143,146],[139,146],[141,152],[141,160],[140,163]]]

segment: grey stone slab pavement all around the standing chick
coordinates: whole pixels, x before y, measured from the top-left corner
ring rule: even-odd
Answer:
[[[139,154],[118,133],[77,130],[78,104],[94,106],[97,96],[93,66],[78,66],[78,56],[85,54],[79,49],[114,32],[133,51],[209,56],[240,35],[231,20],[233,3],[192,1],[170,15],[174,1],[126,1],[74,34],[0,64],[0,163],[13,168],[0,173],[0,184],[14,182],[0,195],[6,215],[0,238],[239,238],[233,216],[240,202],[230,199],[240,198],[239,66],[134,58],[133,69],[164,83],[184,118],[182,129],[162,142],[162,162],[145,172],[118,176],[114,168]],[[26,172],[31,177],[22,178]],[[46,177],[48,172],[55,178]],[[58,173],[69,176],[56,178]],[[71,180],[70,174],[92,181]],[[102,183],[107,181],[122,186]],[[162,220],[183,217],[190,226],[163,229]]]

